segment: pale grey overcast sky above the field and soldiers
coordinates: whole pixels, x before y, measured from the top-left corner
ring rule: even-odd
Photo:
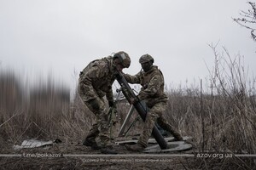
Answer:
[[[199,83],[214,63],[208,44],[218,42],[255,73],[256,43],[232,20],[248,8],[242,0],[0,0],[1,67],[71,85],[73,71],[124,50],[126,73],[151,54],[166,84]]]

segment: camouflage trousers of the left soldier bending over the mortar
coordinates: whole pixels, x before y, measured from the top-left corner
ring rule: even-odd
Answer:
[[[92,124],[86,139],[94,140],[96,137],[99,137],[103,147],[112,145],[109,138],[108,109],[106,108],[104,99],[97,97],[92,102],[91,100],[87,101],[84,95],[85,94],[80,94],[81,99],[88,109],[96,116],[96,121]]]

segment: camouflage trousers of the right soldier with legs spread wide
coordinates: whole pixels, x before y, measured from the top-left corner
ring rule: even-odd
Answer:
[[[182,136],[177,132],[176,128],[166,121],[166,118],[163,116],[163,112],[166,111],[166,103],[158,103],[154,105],[147,113],[146,120],[143,125],[143,132],[141,133],[138,144],[142,144],[144,147],[148,146],[148,139],[152,134],[153,127],[155,122],[159,124],[164,130],[172,134],[176,139],[181,139]]]

